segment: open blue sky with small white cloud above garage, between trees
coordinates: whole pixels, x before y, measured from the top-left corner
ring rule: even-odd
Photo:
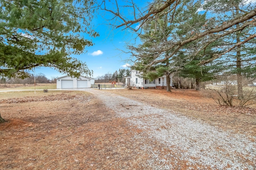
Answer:
[[[145,1],[140,1],[140,3],[146,6]],[[130,54],[123,53],[122,50],[128,51],[125,47],[126,42],[132,42],[134,41],[134,37],[136,37],[136,34],[125,30],[124,27],[112,29],[112,27],[104,23],[106,23],[106,20],[100,15],[95,17],[93,20],[94,30],[100,36],[96,38],[85,37],[86,39],[92,39],[94,45],[86,47],[86,53],[71,55],[71,57],[86,62],[88,68],[93,70],[93,78],[102,76],[108,72],[113,73],[120,68],[128,68],[125,60],[130,57]],[[134,26],[136,27],[136,25],[138,24]],[[36,74],[38,73],[45,74],[47,78],[65,75],[54,70],[54,68],[48,67],[36,67]]]

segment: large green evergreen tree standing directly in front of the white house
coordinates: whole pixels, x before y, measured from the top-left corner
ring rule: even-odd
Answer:
[[[183,41],[198,33],[196,31],[206,22],[206,13],[198,14],[196,12],[199,7],[199,3],[194,4],[194,2],[184,0],[178,5],[177,12],[173,17],[166,16],[166,11],[163,11],[158,20],[144,24],[144,33],[140,35],[142,45],[130,47],[138,61],[133,68],[140,70],[143,77],[150,81],[166,75],[167,91],[170,91],[170,74],[191,61],[192,54],[200,47],[198,45],[200,42],[187,43],[181,51],[164,49],[173,45],[170,43],[170,39],[171,41]],[[161,52],[159,53],[159,51]],[[175,57],[169,58],[168,56],[172,53],[176,53]],[[148,64],[154,63],[156,58],[161,58],[161,62]]]

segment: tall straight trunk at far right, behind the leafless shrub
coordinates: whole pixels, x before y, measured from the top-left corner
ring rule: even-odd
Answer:
[[[239,27],[239,24],[236,25]],[[240,43],[240,35],[236,33],[236,43]],[[243,84],[242,84],[242,73],[241,73],[241,45],[238,45],[236,48],[236,77],[237,77],[237,92],[238,98],[242,99],[243,97]]]

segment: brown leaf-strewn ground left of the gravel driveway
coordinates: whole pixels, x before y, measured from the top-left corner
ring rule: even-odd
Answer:
[[[91,94],[64,94],[77,97],[2,101],[0,169],[138,169],[146,161],[125,120]]]

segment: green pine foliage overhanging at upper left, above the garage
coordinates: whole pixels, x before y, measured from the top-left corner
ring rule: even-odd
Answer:
[[[36,66],[54,67],[70,76],[91,75],[81,54],[98,36],[90,29],[90,0],[0,0],[0,76],[29,76]]]

